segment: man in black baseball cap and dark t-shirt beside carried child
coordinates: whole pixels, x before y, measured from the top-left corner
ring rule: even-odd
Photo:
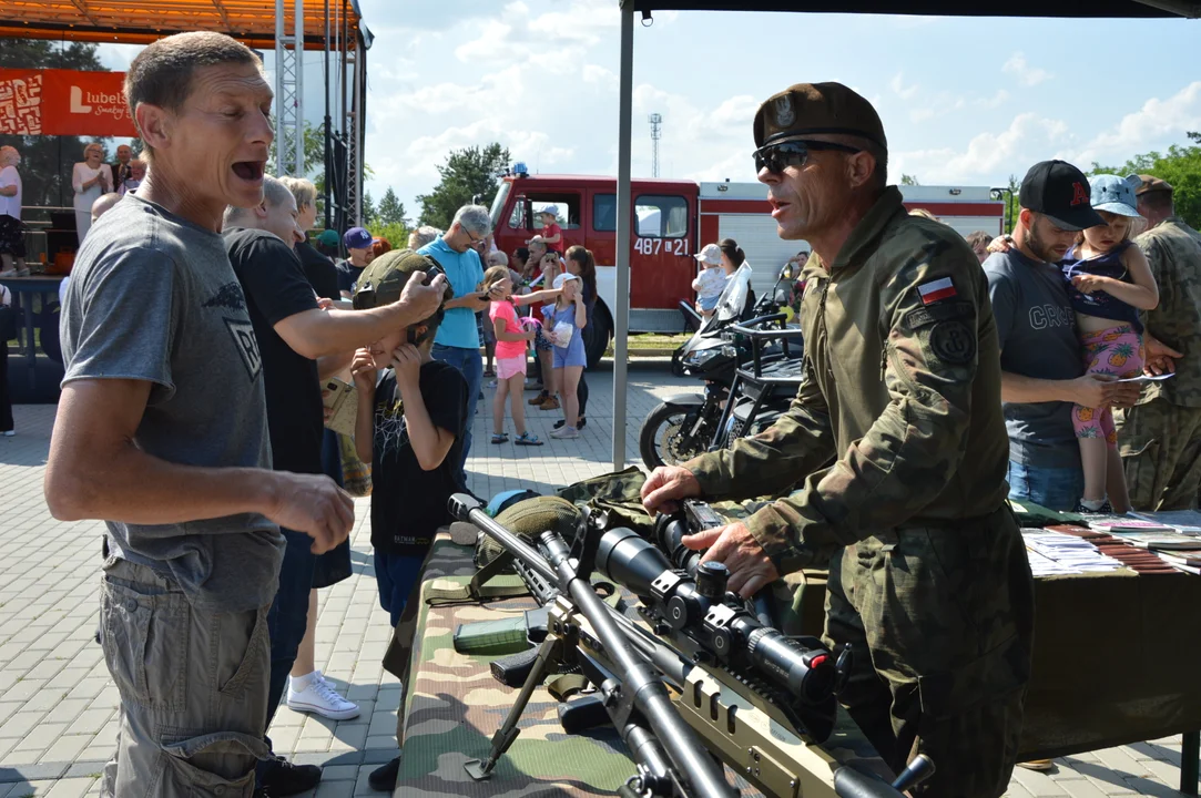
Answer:
[[[1044,161],[1030,167],[1018,197],[1012,246],[984,262],[1000,343],[1009,494],[1074,510],[1085,476],[1072,404],[1128,404],[1137,389],[1085,374],[1076,317],[1056,265],[1080,230],[1105,223],[1092,208],[1088,178],[1064,161]],[[1121,474],[1112,457],[1110,473]]]

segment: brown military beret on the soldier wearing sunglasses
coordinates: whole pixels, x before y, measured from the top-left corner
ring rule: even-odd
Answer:
[[[841,83],[797,83],[759,106],[755,148],[818,133],[860,136],[889,149],[872,103]]]

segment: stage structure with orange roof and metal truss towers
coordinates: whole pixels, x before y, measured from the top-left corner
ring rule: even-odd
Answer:
[[[304,173],[304,52],[323,53],[325,227],[358,224],[372,40],[358,0],[0,0],[0,38],[149,44],[192,30],[274,49],[277,174]]]

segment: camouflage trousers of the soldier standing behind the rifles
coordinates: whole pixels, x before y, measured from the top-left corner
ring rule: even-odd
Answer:
[[[994,798],[1017,757],[1034,582],[1008,508],[950,527],[890,530],[833,556],[827,646],[850,646],[839,696],[900,772],[937,768],[920,796]]]

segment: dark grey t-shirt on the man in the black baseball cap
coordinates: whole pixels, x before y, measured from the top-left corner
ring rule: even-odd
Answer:
[[[1076,314],[1063,271],[1016,248],[984,262],[1000,338],[1000,370],[1036,379],[1085,373]],[[1036,468],[1080,468],[1071,402],[1005,403],[1009,458]]]

